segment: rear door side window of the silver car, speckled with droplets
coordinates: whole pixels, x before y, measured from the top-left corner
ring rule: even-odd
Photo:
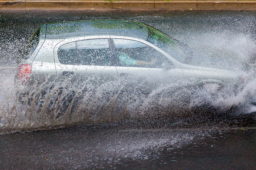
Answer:
[[[110,65],[108,39],[74,41],[58,49],[61,64],[72,65]]]

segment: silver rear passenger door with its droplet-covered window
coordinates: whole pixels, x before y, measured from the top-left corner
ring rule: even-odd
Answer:
[[[91,81],[94,85],[114,80],[109,36],[66,39],[55,47],[55,66],[60,80],[69,83]]]

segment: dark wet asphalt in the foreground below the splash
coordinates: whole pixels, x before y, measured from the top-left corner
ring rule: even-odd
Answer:
[[[117,130],[84,126],[0,137],[3,170],[253,170],[255,130]]]

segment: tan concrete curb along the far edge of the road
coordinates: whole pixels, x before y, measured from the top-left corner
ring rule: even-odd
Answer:
[[[0,8],[218,8],[256,9],[256,0],[0,0]]]

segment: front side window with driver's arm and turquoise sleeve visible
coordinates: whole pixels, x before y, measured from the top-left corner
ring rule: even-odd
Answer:
[[[113,39],[118,52],[121,66],[173,68],[173,64],[166,56],[156,49],[138,41],[128,39]]]

